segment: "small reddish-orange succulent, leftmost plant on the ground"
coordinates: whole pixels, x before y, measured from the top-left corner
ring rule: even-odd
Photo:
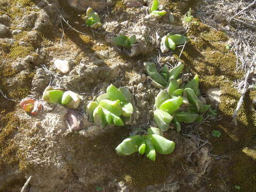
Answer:
[[[43,108],[42,104],[34,99],[23,99],[20,102],[20,107],[31,115],[38,115]]]

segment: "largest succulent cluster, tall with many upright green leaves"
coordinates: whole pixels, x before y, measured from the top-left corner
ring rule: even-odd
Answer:
[[[211,105],[204,105],[198,98],[200,94],[198,75],[184,84],[182,79],[178,78],[184,68],[182,63],[179,63],[171,71],[165,65],[161,74],[158,73],[155,63],[144,62],[144,66],[155,84],[164,89],[155,98],[154,121],[157,127],[162,131],[167,131],[172,122],[179,132],[181,130],[180,123],[202,121],[202,114]]]

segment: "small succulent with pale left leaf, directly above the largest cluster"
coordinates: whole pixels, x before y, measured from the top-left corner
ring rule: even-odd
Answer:
[[[189,38],[184,35],[167,34],[167,35],[163,36],[161,39],[160,49],[163,53],[170,51],[170,50],[174,51],[176,49],[177,45],[182,45],[185,42],[189,42]]]

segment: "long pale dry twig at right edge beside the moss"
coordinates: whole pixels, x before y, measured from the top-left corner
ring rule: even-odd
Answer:
[[[237,107],[236,107],[236,109],[234,111],[233,122],[235,123],[236,126],[237,126],[237,114],[238,114],[238,111],[239,111],[240,107],[242,106],[242,103],[243,103],[243,100],[244,100],[244,97],[245,97],[245,93],[247,92],[247,87],[248,87],[248,83],[247,82],[248,82],[249,75],[251,73],[251,69],[253,67],[253,63],[254,63],[255,59],[256,59],[256,55],[254,56],[254,58],[253,58],[253,60],[251,62],[251,65],[250,65],[250,67],[249,67],[249,69],[247,71],[247,74],[245,76],[242,95],[241,95],[241,97],[240,97],[240,99],[239,99],[239,101],[237,103]]]

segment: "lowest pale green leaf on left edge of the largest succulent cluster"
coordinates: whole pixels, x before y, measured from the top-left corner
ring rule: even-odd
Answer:
[[[162,110],[155,110],[154,111],[154,122],[156,123],[157,127],[163,131],[169,130],[170,122],[172,121],[172,116],[169,113],[166,113]]]

